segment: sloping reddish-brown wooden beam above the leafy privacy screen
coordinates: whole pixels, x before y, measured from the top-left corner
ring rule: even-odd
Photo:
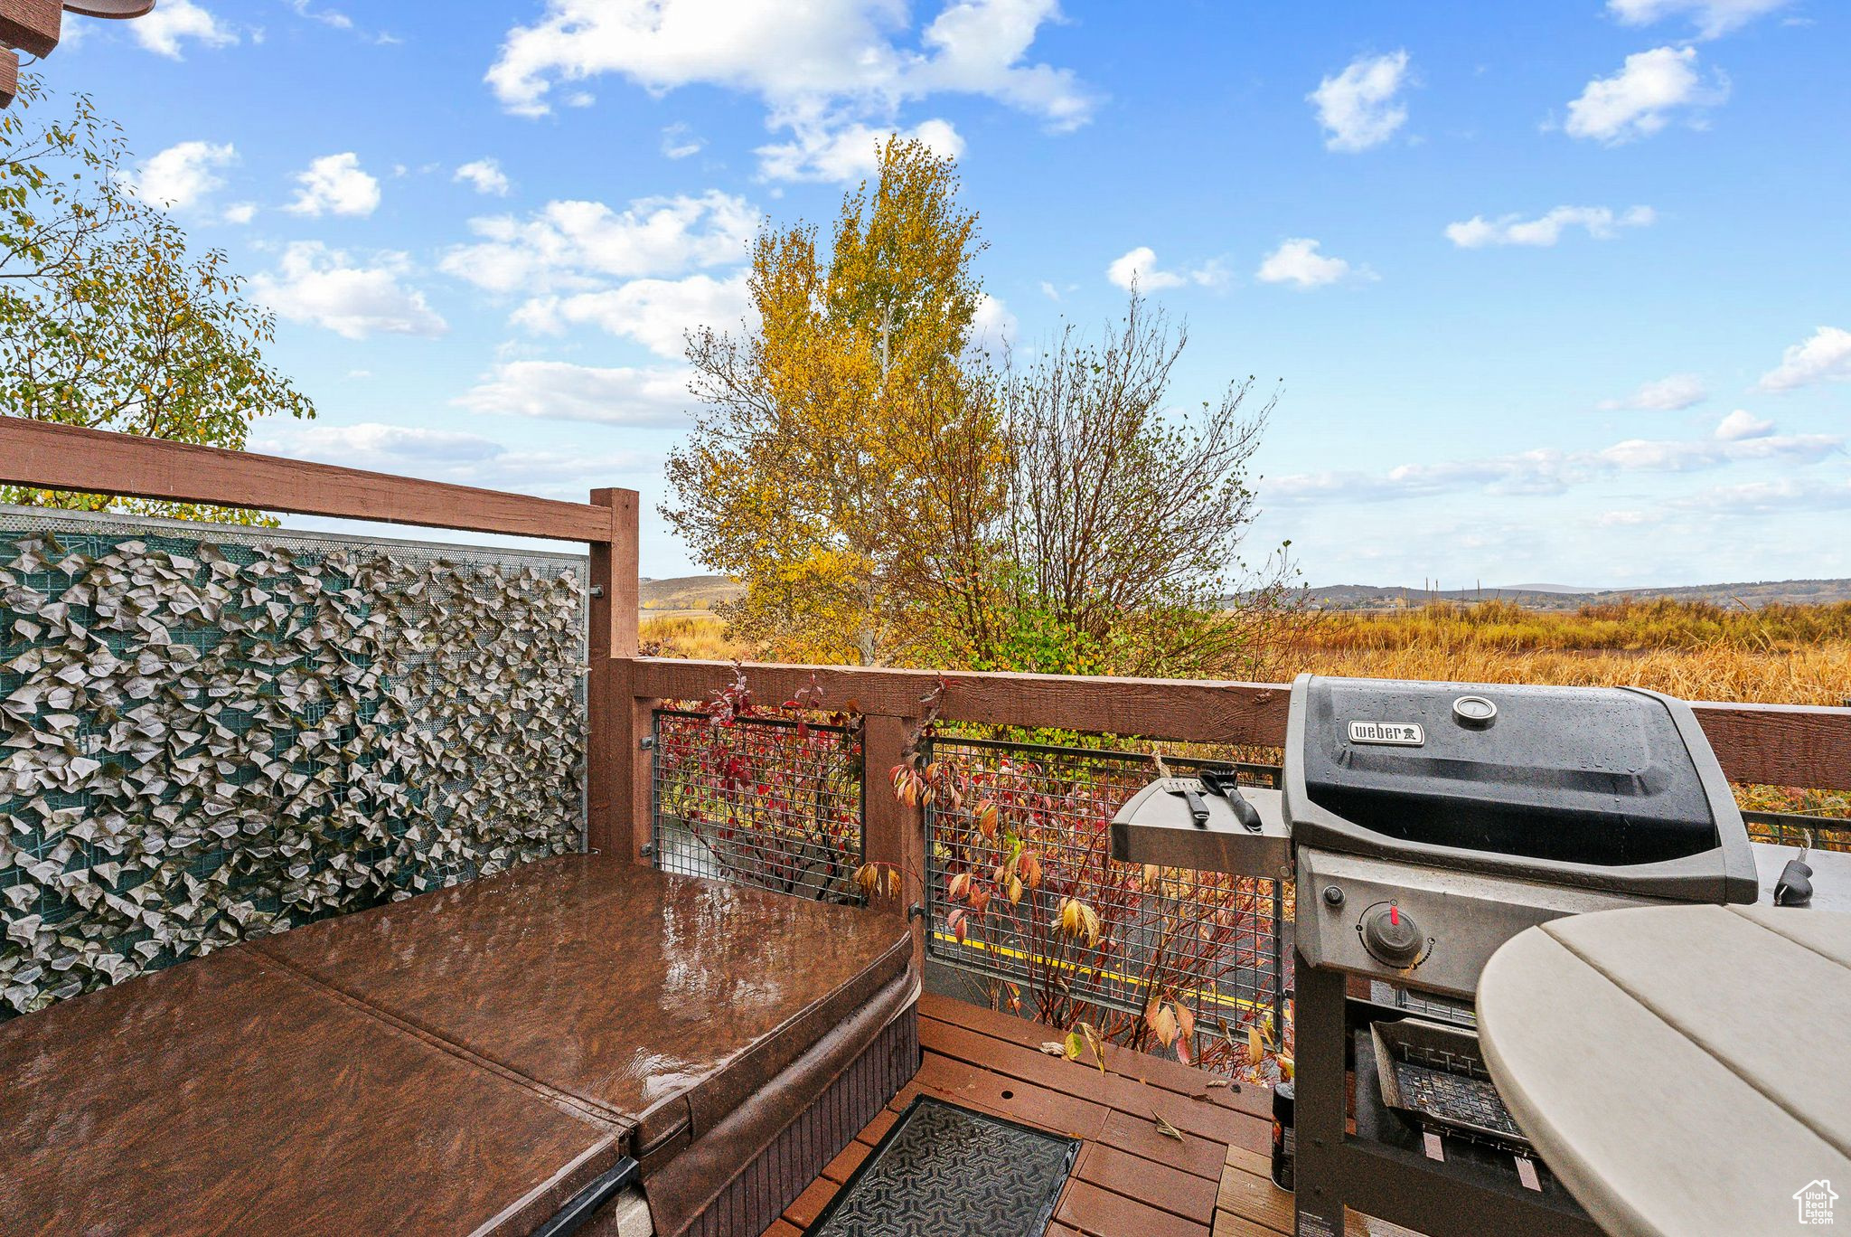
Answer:
[[[611,507],[0,417],[0,483],[609,544]],[[627,491],[626,491],[627,493]]]

